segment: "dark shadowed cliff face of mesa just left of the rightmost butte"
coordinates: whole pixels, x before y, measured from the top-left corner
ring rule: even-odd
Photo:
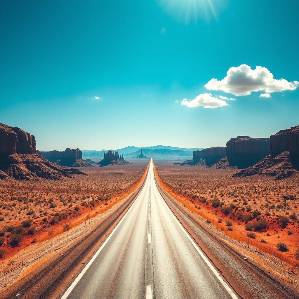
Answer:
[[[238,136],[226,143],[226,157],[229,164],[239,169],[250,167],[270,153],[270,138]]]

